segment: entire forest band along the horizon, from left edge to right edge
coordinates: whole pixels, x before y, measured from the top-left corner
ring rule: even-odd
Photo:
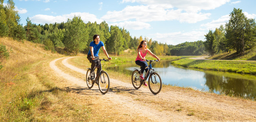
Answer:
[[[67,22],[54,24],[33,24],[29,17],[26,25],[20,24],[20,16],[15,11],[15,3],[8,0],[3,5],[0,0],[0,37],[12,37],[22,41],[26,39],[34,43],[44,44],[46,50],[59,53],[87,53],[88,46],[93,41],[93,35],[100,35],[101,41],[110,54],[119,55],[124,50],[136,50],[139,42],[146,40],[148,48],[156,55],[205,55],[236,50],[244,54],[256,45],[256,24],[254,19],[248,19],[241,9],[230,13],[230,20],[215,31],[209,30],[205,41],[184,42],[178,45],[167,45],[148,37],[132,37],[128,30],[118,26],[108,26],[104,21],[84,23],[81,17],[74,16]],[[164,35],[163,35],[164,36]],[[2,45],[1,45],[2,47]]]

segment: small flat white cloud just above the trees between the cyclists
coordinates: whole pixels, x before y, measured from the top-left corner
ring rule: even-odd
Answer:
[[[125,22],[120,22],[120,23],[112,23],[110,25],[113,26],[119,26],[119,27],[124,27],[125,29],[133,29],[133,30],[142,30],[142,29],[150,29],[150,24],[144,23],[144,22],[137,22],[137,21],[125,21]]]

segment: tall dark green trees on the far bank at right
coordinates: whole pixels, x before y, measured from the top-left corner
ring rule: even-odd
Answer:
[[[245,54],[256,46],[256,23],[254,19],[248,19],[241,9],[234,8],[230,13],[230,20],[216,28],[209,30],[205,35],[206,51],[214,54],[235,50],[236,54]]]

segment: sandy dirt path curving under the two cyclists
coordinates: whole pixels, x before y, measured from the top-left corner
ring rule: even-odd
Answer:
[[[170,87],[166,90],[163,88],[159,94],[153,95],[148,87],[135,90],[131,83],[124,83],[110,76],[111,90],[101,95],[97,85],[88,89],[81,78],[66,73],[71,70],[86,74],[86,70],[68,63],[71,58],[75,57],[55,59],[50,62],[50,67],[58,77],[66,79],[66,82],[71,84],[67,87],[86,87],[82,92],[83,95],[95,96],[99,98],[96,100],[103,100],[95,102],[104,102],[107,107],[115,106],[120,114],[129,113],[154,122],[256,121],[255,101],[203,93],[192,89]],[[55,63],[59,60],[62,60],[66,71],[56,66]]]

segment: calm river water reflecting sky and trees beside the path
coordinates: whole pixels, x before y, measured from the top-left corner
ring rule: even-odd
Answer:
[[[191,87],[217,94],[234,94],[244,98],[256,98],[255,75],[177,68],[170,64],[171,61],[173,60],[162,60],[161,63],[156,62],[153,67],[161,76],[164,84]],[[130,75],[135,68],[139,69],[139,66],[135,62],[131,62],[107,69]]]

